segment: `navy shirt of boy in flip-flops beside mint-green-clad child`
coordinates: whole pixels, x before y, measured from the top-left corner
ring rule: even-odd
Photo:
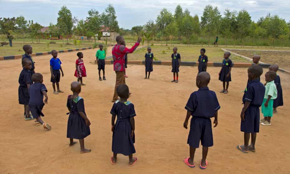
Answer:
[[[243,96],[243,103],[250,102],[252,106],[260,107],[263,103],[265,86],[259,79],[252,80],[248,83]]]

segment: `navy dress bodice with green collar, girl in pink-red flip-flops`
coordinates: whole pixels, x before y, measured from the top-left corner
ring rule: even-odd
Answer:
[[[117,120],[129,119],[136,116],[134,104],[130,101],[121,103],[119,100],[117,100],[114,103],[110,113],[112,115],[117,115]]]

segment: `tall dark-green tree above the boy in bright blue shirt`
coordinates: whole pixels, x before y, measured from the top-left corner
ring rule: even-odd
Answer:
[[[68,42],[68,36],[72,34],[72,27],[75,22],[75,17],[73,19],[70,10],[66,6],[62,6],[58,12],[57,26],[62,35],[65,35]]]

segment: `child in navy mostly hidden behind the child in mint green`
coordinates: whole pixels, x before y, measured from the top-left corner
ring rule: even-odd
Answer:
[[[279,66],[271,65],[269,67],[269,70],[275,71],[277,74],[274,80],[274,83],[276,84],[276,87],[277,87],[277,99],[274,99],[273,101],[273,113],[277,113],[277,107],[283,106],[283,91],[282,91],[280,76],[277,73],[277,71],[279,70]]]

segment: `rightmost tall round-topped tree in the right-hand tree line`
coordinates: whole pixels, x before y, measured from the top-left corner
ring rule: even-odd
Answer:
[[[246,10],[239,11],[239,14],[237,16],[237,27],[239,31],[239,36],[242,39],[243,46],[245,45],[244,37],[249,36],[250,25],[251,25],[250,14]]]

